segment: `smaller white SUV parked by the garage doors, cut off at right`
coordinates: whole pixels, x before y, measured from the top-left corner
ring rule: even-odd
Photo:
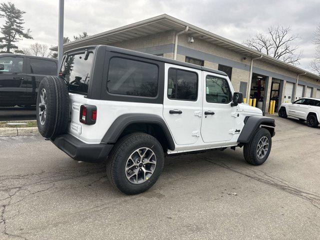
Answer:
[[[320,122],[320,99],[302,97],[292,102],[284,102],[278,111],[279,117],[293,116],[305,121],[310,127],[317,127]]]

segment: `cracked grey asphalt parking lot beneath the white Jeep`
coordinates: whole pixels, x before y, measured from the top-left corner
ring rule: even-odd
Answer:
[[[320,127],[276,118],[261,166],[242,149],[167,157],[127,196],[104,165],[41,137],[0,138],[0,239],[319,239]]]

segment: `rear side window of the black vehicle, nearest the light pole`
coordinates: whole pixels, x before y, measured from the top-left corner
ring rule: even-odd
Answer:
[[[36,58],[30,58],[29,73],[42,75],[56,75],[57,67],[55,61],[48,61]]]

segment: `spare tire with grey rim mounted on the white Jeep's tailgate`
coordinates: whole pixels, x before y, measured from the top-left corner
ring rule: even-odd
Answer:
[[[56,76],[44,77],[36,97],[36,122],[41,135],[53,140],[66,133],[69,111],[69,95],[65,81]]]

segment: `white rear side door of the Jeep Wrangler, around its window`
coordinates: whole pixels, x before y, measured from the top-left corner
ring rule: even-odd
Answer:
[[[168,69],[169,68],[186,70],[197,73],[198,83],[197,89],[202,89],[202,76],[201,71],[193,68],[171,65],[165,63],[165,76],[164,76],[164,97],[163,97],[163,118],[166,121],[169,129],[172,133],[173,139],[176,144],[193,144],[197,141],[200,135],[200,125],[201,125],[201,104],[202,104],[202,94],[200,90],[197,90],[196,100],[178,100],[169,99],[171,95],[177,88],[168,88]],[[180,83],[183,84],[183,79],[178,79]],[[171,81],[171,80],[170,80]],[[180,84],[179,83],[179,84]],[[171,83],[169,83],[171,84]],[[174,113],[172,112],[178,112]],[[171,113],[170,113],[171,111]]]

